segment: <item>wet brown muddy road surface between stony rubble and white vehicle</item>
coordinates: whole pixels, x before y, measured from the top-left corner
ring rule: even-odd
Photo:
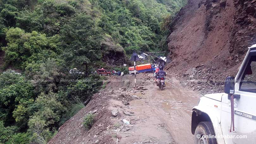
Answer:
[[[144,85],[147,90],[143,92],[137,90],[142,99],[130,102],[134,116],[125,117],[134,121],[133,129],[120,133],[120,143],[193,143],[191,109],[201,95],[181,86],[174,77],[167,80],[162,91],[153,83]]]

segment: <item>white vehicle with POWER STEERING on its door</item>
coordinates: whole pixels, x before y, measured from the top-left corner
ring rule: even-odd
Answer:
[[[192,109],[194,143],[256,143],[256,44],[236,77],[227,77],[224,92],[204,95]]]

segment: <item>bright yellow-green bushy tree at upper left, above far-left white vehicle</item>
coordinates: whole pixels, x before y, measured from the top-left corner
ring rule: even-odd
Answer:
[[[6,40],[8,44],[2,48],[5,52],[5,63],[22,69],[25,69],[33,60],[45,60],[59,51],[58,35],[46,37],[45,34],[35,31],[25,33],[24,30],[16,27],[7,31]]]

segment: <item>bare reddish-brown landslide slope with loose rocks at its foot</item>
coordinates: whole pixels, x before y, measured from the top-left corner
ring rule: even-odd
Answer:
[[[256,43],[256,0],[189,0],[172,31],[166,69],[194,90],[220,92]]]

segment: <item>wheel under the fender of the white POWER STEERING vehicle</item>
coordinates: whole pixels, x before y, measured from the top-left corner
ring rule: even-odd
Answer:
[[[212,123],[200,122],[197,125],[194,139],[195,144],[217,144]]]

